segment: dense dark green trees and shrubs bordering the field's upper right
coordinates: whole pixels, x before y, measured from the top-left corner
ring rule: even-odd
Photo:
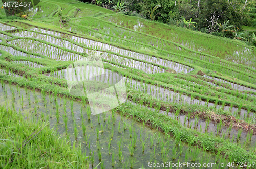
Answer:
[[[156,5],[161,5],[154,11],[157,22],[166,23],[168,25],[186,26],[183,20],[190,20],[197,24],[189,27],[194,31],[210,33],[216,36],[237,39],[232,32],[234,30],[243,31],[242,26],[255,26],[255,17],[251,15],[255,9],[255,0],[198,0],[198,1],[176,1],[176,0],[80,0],[92,3],[104,8],[111,9],[115,12],[123,12],[126,15],[139,16],[150,19],[152,9]],[[118,9],[118,10],[117,10]],[[232,31],[222,31],[218,25],[223,25],[229,21],[229,25],[233,25]],[[247,32],[243,35],[248,45],[253,45],[253,35]],[[242,39],[242,38],[241,38]]]

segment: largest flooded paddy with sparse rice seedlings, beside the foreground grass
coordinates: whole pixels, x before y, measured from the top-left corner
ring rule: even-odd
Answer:
[[[183,147],[179,147],[179,144],[176,146],[172,138],[129,118],[121,117],[115,112],[92,116],[86,104],[76,101],[72,104],[71,100],[59,97],[55,100],[54,96],[46,94],[43,99],[44,96],[40,92],[4,83],[0,85],[0,92],[0,103],[6,105],[6,108],[22,113],[27,120],[48,119],[50,126],[62,136],[68,137],[72,143],[76,137],[77,141],[82,143],[83,152],[86,155],[90,155],[91,152],[94,166],[100,162],[99,158],[101,165],[104,165],[103,168],[112,168],[112,163],[115,168],[130,168],[131,165],[134,168],[147,168],[148,162],[194,163],[192,160],[201,164],[215,162],[213,155],[210,156],[209,153],[194,148],[191,148],[190,152],[186,144]],[[142,152],[143,143],[144,152]],[[131,156],[129,148],[133,145],[135,151]],[[186,153],[188,156],[185,157]]]

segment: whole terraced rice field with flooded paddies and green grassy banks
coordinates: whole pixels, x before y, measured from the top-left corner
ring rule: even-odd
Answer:
[[[63,29],[58,9],[71,16]],[[0,21],[4,109],[81,144],[90,168],[256,167],[249,46],[72,0],[31,10],[33,21]],[[95,115],[92,103],[106,111]]]

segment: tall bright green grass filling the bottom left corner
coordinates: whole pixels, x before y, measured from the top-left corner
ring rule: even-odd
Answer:
[[[89,168],[80,145],[72,147],[47,122],[31,122],[17,112],[0,109],[1,168]]]

